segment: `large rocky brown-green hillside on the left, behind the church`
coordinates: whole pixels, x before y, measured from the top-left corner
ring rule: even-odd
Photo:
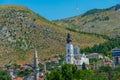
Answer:
[[[106,41],[95,35],[70,32],[26,7],[0,6],[0,65],[10,61],[18,64],[32,62],[34,46],[39,60],[64,55],[67,33],[81,48]]]

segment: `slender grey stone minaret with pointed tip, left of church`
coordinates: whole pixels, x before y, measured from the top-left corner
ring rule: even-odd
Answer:
[[[36,48],[34,51],[34,80],[39,80],[38,56]]]

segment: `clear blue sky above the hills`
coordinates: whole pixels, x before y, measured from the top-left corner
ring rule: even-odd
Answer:
[[[120,0],[0,0],[0,5],[26,6],[49,20],[73,17],[90,9],[108,8],[119,3]]]

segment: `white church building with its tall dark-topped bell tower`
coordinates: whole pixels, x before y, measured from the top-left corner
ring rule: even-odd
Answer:
[[[78,46],[72,45],[72,39],[69,33],[67,35],[66,41],[67,43],[65,62],[67,64],[75,64],[79,69],[81,69],[81,65],[83,63],[89,65],[89,58],[87,58],[84,53],[83,54],[80,53],[80,49]]]

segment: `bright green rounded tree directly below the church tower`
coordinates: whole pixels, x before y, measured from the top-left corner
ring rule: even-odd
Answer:
[[[74,74],[77,71],[77,67],[72,64],[65,64],[61,69],[52,71],[50,74],[47,74],[48,80],[73,80]]]

